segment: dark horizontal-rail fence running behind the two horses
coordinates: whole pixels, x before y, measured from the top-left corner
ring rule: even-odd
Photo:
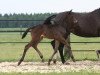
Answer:
[[[33,23],[33,25],[37,25],[37,24],[40,24],[40,23],[42,23],[43,22],[43,20],[0,20],[0,22],[19,22],[19,21],[29,21],[29,22],[31,22],[31,21],[37,21],[36,23]],[[25,24],[26,25],[26,24]],[[27,25],[27,26],[25,26],[25,27],[30,27],[31,25]],[[0,27],[2,27],[2,26],[0,26]],[[23,25],[19,25],[19,30],[0,30],[0,32],[1,33],[9,33],[9,32],[16,32],[16,33],[21,33],[22,34],[22,32],[24,32],[25,30],[23,30]],[[0,42],[0,44],[5,44],[5,43],[28,43],[28,42]],[[41,42],[41,43],[50,43],[50,42]],[[100,43],[100,42],[70,42],[70,43],[74,43],[74,44],[76,44],[76,43]],[[95,50],[74,50],[74,51],[95,51]]]

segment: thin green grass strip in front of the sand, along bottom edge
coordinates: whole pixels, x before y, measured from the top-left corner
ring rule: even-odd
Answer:
[[[89,72],[65,72],[65,73],[0,73],[0,75],[100,75]]]

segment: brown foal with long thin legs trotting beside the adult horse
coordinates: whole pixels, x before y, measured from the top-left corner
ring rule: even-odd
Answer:
[[[69,17],[68,17],[69,16]],[[64,19],[64,23],[68,23],[68,24],[71,24],[71,26],[74,27],[74,24],[78,24],[78,23],[74,23],[74,19],[73,19],[73,16],[70,15],[70,12],[67,12],[66,13],[66,16],[64,16],[64,18],[68,17],[67,19]],[[66,21],[65,21],[66,20]],[[73,28],[71,27],[71,28]],[[39,44],[39,42],[45,37],[45,38],[48,38],[48,39],[54,39],[55,40],[55,48],[54,48],[54,52],[52,54],[52,56],[50,57],[49,61],[48,61],[48,65],[50,65],[50,62],[52,61],[54,55],[57,53],[57,50],[58,50],[58,46],[59,46],[59,43],[63,43],[66,47],[69,47],[66,42],[66,39],[67,38],[66,36],[69,35],[69,33],[67,32],[69,28],[67,28],[67,26],[61,26],[61,25],[48,25],[48,24],[40,24],[40,25],[36,25],[36,26],[33,26],[33,27],[30,27],[28,28],[24,34],[22,35],[22,39],[27,35],[27,33],[30,31],[31,32],[31,41],[25,46],[24,48],[24,52],[23,52],[23,55],[21,57],[21,59],[19,60],[18,62],[18,65],[21,64],[21,62],[24,60],[24,57],[26,55],[26,52],[27,50],[30,48],[30,47],[33,47],[39,54],[40,58],[42,59],[42,61],[44,61],[43,59],[43,55],[42,53],[40,52],[40,50],[37,48],[37,45]],[[70,30],[73,30],[73,29],[70,29]]]

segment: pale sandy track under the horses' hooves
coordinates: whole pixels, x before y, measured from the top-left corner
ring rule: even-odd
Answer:
[[[86,70],[88,72],[100,73],[100,61],[76,61],[69,62],[69,65],[64,65],[61,62],[57,64],[51,63],[50,66],[47,62],[23,62],[20,66],[17,66],[17,62],[1,62],[0,72],[79,72]]]

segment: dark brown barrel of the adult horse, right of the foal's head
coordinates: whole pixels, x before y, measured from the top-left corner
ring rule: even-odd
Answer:
[[[98,30],[100,29],[100,13],[73,13],[74,17],[78,20],[81,28],[80,36],[94,37],[99,36]]]

